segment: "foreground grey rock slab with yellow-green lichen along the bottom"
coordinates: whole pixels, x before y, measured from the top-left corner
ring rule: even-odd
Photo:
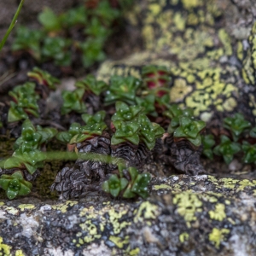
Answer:
[[[146,201],[2,201],[2,255],[255,255],[256,180],[155,178]]]

